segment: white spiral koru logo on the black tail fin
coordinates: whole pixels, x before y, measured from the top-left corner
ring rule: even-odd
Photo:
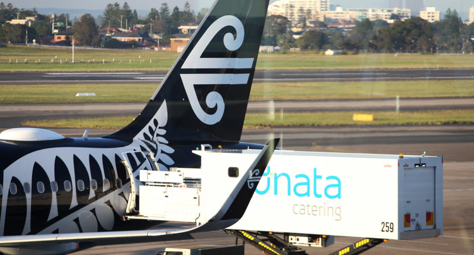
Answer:
[[[202,53],[217,33],[231,26],[236,30],[236,36],[227,33],[224,36],[224,46],[227,50],[235,51],[240,48],[245,35],[242,22],[231,15],[223,16],[212,23],[193,48],[188,58],[185,60],[182,69],[250,69],[253,65],[253,58],[201,58]],[[214,125],[222,119],[224,115],[224,99],[216,91],[212,91],[206,96],[206,105],[209,108],[216,108],[213,114],[207,114],[199,105],[194,85],[237,85],[247,84],[250,73],[193,73],[180,74],[186,94],[188,95],[191,107],[197,118],[205,124]]]

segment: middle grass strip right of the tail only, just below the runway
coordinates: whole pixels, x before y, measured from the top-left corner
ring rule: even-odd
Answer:
[[[371,99],[474,96],[474,80],[254,83],[251,100]]]

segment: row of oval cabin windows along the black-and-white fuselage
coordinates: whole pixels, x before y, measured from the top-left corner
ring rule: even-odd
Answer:
[[[108,179],[104,179],[103,182],[104,182],[104,191],[109,190],[110,189],[110,181]],[[78,184],[77,187],[78,187],[79,191],[83,191],[85,189],[84,181],[78,180],[77,184]],[[117,179],[115,184],[116,184],[117,188],[122,187],[122,181],[120,179]],[[90,187],[94,191],[97,190],[97,188],[98,188],[97,181],[94,180],[94,179],[90,180]],[[46,190],[46,187],[45,187],[43,182],[37,182],[36,183],[36,188],[37,188],[37,190],[40,194],[44,193],[44,191]],[[68,181],[68,180],[64,181],[64,190],[66,190],[66,192],[71,192],[72,189],[73,188],[72,188],[71,182]],[[9,190],[10,190],[10,193],[12,195],[15,195],[18,192],[17,186],[13,182],[10,183]],[[23,190],[25,191],[25,193],[30,193],[31,192],[30,183],[28,183],[28,182],[23,183]],[[52,181],[51,182],[51,191],[52,192],[58,192],[58,190],[59,190],[58,183],[55,182],[55,181]],[[3,194],[3,186],[0,184],[0,195],[2,195],[2,194]]]

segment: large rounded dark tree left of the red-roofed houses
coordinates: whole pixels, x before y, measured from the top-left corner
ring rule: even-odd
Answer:
[[[74,24],[74,40],[78,45],[96,46],[99,42],[97,27],[94,18],[89,14],[84,14],[80,20]]]

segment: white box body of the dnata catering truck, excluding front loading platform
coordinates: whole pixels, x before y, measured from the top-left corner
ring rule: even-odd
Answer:
[[[197,153],[205,169],[201,211],[213,215],[238,179],[215,168],[236,162],[243,170],[256,154]],[[420,162],[426,166],[415,167]],[[427,212],[434,212],[433,225],[427,225]],[[405,228],[407,213],[414,223]],[[442,234],[441,217],[440,157],[276,151],[247,211],[231,228],[413,239],[421,232],[406,231],[435,228],[423,237]]]

